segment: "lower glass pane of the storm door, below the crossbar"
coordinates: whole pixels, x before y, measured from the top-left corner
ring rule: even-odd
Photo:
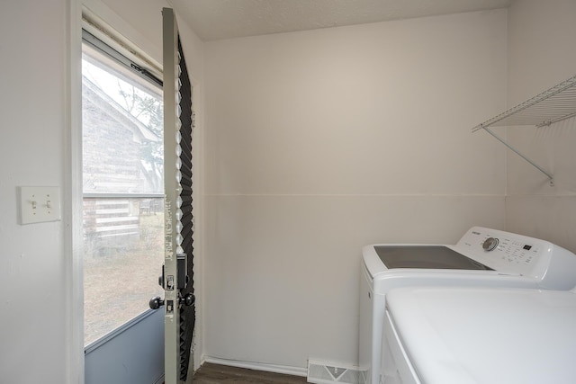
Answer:
[[[163,296],[164,199],[84,199],[85,344]]]

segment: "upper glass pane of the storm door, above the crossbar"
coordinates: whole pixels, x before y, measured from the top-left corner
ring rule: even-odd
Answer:
[[[142,83],[84,54],[84,192],[163,193],[161,90]]]

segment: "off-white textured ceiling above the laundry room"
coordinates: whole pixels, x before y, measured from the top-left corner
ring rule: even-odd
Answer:
[[[169,0],[204,41],[506,8],[512,0]]]

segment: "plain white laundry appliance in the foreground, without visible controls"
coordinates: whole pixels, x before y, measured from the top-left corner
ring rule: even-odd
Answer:
[[[576,292],[512,288],[392,290],[383,384],[576,382]]]

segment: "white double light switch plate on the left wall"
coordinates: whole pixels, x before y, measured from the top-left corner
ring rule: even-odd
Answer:
[[[59,187],[19,187],[20,224],[60,220]]]

